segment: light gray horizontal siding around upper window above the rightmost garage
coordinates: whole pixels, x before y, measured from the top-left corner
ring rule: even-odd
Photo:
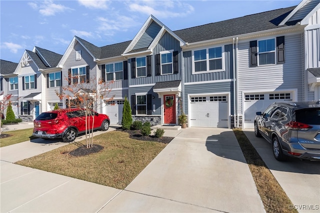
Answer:
[[[263,38],[260,38],[263,39]],[[285,35],[283,64],[249,67],[249,41],[238,44],[238,110],[242,111],[242,92],[297,89],[297,101],[302,101],[303,56],[302,35]]]

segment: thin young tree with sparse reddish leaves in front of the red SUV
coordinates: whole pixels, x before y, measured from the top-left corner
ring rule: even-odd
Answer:
[[[66,78],[66,80],[70,81],[70,77]],[[85,114],[85,141],[87,148],[93,146],[95,111],[101,107],[103,101],[111,101],[114,98],[114,96],[108,97],[111,91],[109,89],[111,83],[113,81],[103,82],[98,79],[97,81],[92,80],[92,83],[82,82],[63,86],[62,92],[56,91],[56,95],[61,100],[66,100],[68,108],[79,108]],[[90,119],[92,119],[92,126],[89,127]]]

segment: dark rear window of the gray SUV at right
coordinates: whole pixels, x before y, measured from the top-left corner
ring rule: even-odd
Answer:
[[[295,111],[295,120],[303,124],[320,125],[320,109],[300,109]]]

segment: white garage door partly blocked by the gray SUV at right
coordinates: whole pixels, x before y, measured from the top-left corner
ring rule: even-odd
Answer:
[[[273,102],[292,101],[292,92],[282,93],[245,93],[244,128],[254,128],[256,112],[263,112]]]

